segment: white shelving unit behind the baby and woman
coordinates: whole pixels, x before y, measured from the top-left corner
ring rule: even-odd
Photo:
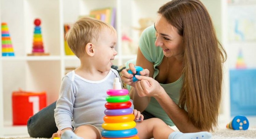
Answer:
[[[139,19],[155,20],[158,8],[168,1],[0,0],[0,21],[8,24],[15,52],[15,57],[0,56],[0,137],[27,134],[26,126],[12,125],[12,91],[18,88],[33,92],[46,91],[47,105],[49,105],[58,98],[65,68],[79,66],[78,58],[65,55],[64,23],[73,23],[78,16],[88,15],[92,9],[115,7],[118,55],[113,64],[121,66],[127,60],[136,58],[136,54],[123,53],[122,35],[127,34],[132,39],[134,48],[137,49],[139,31],[134,28],[140,27]],[[218,8],[211,7],[212,0],[202,0],[202,2],[211,8],[210,14],[215,19],[213,21],[217,23],[217,27],[221,28],[218,35],[222,38],[223,18],[220,19],[222,13],[218,12],[223,8],[222,0],[213,2]],[[32,49],[35,18],[41,19],[44,50],[50,56],[27,56]],[[224,108],[222,112],[226,111],[227,109]]]

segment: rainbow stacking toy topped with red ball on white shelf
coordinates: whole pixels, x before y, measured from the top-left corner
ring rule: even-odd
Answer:
[[[41,20],[34,20],[35,28],[34,28],[34,37],[33,37],[33,47],[32,54],[28,54],[28,56],[42,56],[49,55],[48,53],[44,53],[43,39],[41,34]]]

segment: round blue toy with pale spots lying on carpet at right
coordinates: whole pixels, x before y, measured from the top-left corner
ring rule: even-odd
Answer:
[[[227,128],[233,130],[247,130],[249,127],[249,121],[243,115],[238,115],[233,118],[233,120],[227,124]]]

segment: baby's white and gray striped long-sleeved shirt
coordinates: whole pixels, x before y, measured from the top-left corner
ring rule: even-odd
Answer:
[[[109,74],[100,81],[86,80],[76,75],[74,71],[63,77],[59,99],[54,110],[58,129],[92,124],[102,130],[105,98],[108,96],[106,91],[113,88],[116,77],[120,79],[115,69],[111,69]]]

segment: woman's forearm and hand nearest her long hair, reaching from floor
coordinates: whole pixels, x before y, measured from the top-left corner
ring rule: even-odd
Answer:
[[[168,96],[162,86],[153,78],[146,76],[136,77],[140,81],[136,84],[138,95],[144,97],[154,97],[172,122],[183,133],[200,132],[207,130],[200,130],[193,125],[188,118],[188,113],[180,108],[174,101]]]

